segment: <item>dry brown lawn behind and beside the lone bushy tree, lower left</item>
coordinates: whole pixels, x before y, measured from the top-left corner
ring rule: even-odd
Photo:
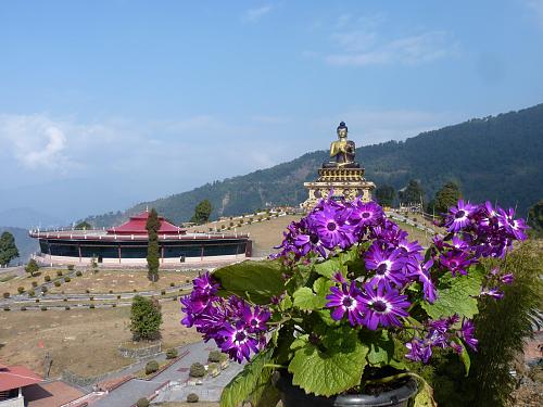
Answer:
[[[179,302],[162,303],[162,311],[164,349],[200,341],[194,330],[179,323]],[[2,313],[0,360],[41,372],[43,356],[50,352],[53,377],[66,368],[83,376],[122,368],[132,361],[117,352],[122,342],[131,339],[129,314],[129,307]]]

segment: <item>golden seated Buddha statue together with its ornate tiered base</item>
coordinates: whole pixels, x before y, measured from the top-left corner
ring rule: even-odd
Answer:
[[[330,161],[324,163],[318,170],[318,179],[304,182],[310,192],[308,199],[302,203],[305,211],[311,211],[319,199],[330,198],[348,201],[356,196],[365,202],[372,200],[376,188],[374,182],[364,178],[364,167],[355,162],[355,143],[348,140],[348,127],[341,122],[338,126],[338,140],[330,144]]]

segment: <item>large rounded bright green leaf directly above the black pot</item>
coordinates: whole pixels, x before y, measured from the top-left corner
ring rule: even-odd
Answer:
[[[295,351],[289,365],[293,384],[306,393],[331,396],[361,383],[368,348],[357,340],[353,329],[345,328],[330,329],[325,336],[325,345],[329,346],[326,351],[311,343]]]

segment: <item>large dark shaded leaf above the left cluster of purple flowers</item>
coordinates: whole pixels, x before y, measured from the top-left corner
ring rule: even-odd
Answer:
[[[268,304],[270,297],[285,291],[282,265],[279,260],[245,260],[215,270],[222,295],[236,294],[255,304]]]

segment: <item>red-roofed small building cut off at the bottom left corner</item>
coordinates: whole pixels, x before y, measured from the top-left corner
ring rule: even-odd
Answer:
[[[0,407],[25,407],[23,389],[41,381],[38,374],[24,366],[0,364]]]

